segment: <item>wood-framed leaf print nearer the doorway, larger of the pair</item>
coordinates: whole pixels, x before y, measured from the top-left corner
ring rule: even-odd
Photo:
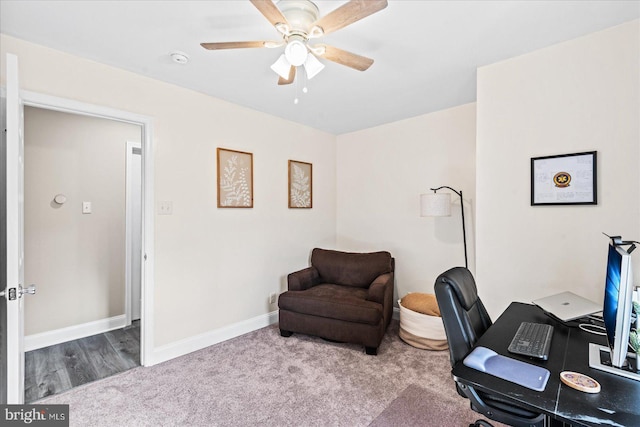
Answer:
[[[253,207],[253,154],[217,149],[218,207]]]

